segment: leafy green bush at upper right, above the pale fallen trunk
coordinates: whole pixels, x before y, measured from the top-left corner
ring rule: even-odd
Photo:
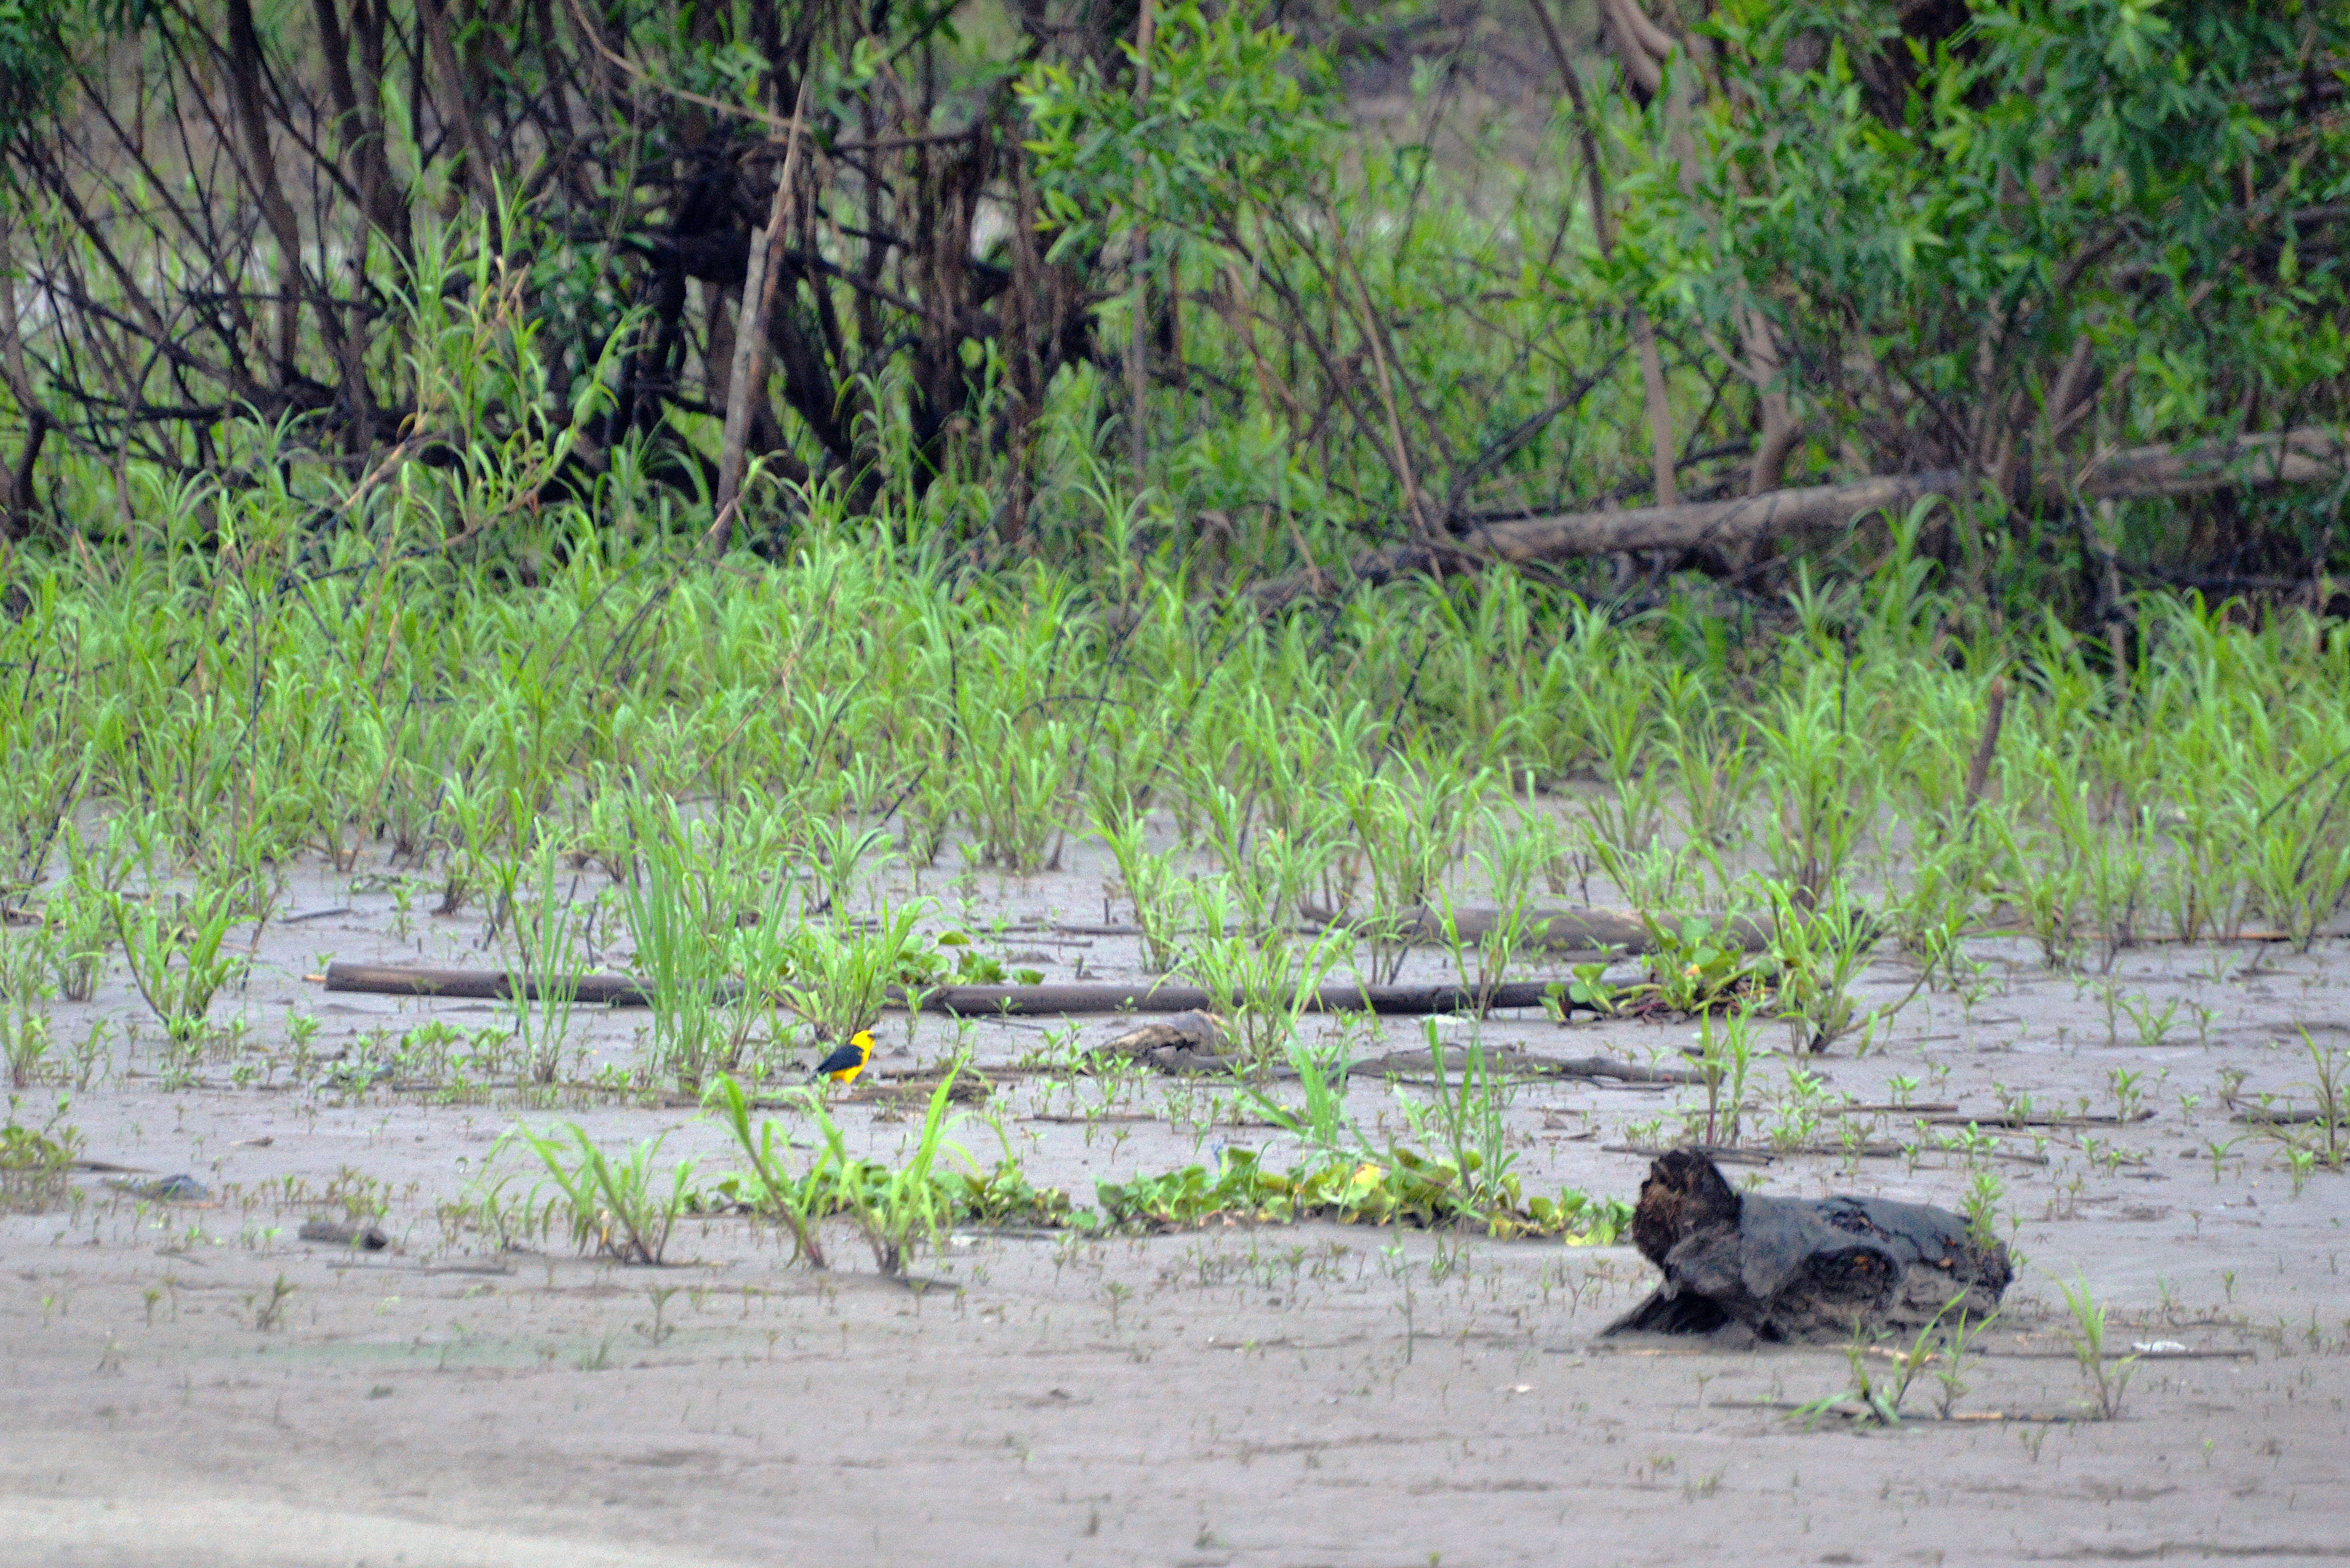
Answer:
[[[1831,14],[1817,68],[1755,68]],[[1927,465],[2047,451],[2075,348],[2124,388],[2092,449],[2336,421],[2350,141],[2296,68],[2345,28],[2315,5],[1983,5],[1885,99],[1852,56],[1904,52],[1889,21],[1725,7],[1699,179],[1643,172],[1624,275],[1718,334],[1760,308],[1824,437]]]

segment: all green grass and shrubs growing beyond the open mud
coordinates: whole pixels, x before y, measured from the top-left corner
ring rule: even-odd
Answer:
[[[1812,976],[1894,931],[1955,983],[1983,919],[2308,945],[2345,49],[2134,0],[5,0],[0,891],[56,879],[9,994],[120,943],[193,1048],[228,926],[367,860],[536,973],[623,922],[698,1086],[759,1034],[710,978],[837,1037],[949,961],[851,929],[877,856],[1072,835],[1260,1018],[1455,889],[1866,893]]]

